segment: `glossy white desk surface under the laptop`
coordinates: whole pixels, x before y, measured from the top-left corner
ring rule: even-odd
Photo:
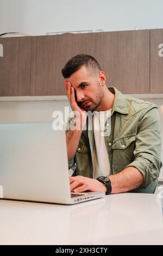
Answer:
[[[77,205],[0,200],[1,245],[163,245],[158,194],[113,194]]]

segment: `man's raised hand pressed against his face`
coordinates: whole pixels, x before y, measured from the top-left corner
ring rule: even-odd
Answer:
[[[68,100],[70,101],[72,111],[78,111],[79,114],[81,115],[81,117],[82,116],[87,117],[86,111],[83,108],[78,106],[78,103],[77,103],[76,98],[75,98],[75,91],[74,91],[74,88],[71,85],[71,83],[67,82],[67,81],[64,81],[64,85],[65,85],[65,91],[66,91]]]

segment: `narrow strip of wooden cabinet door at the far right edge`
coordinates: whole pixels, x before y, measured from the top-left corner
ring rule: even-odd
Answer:
[[[151,93],[163,93],[163,29],[151,30]]]

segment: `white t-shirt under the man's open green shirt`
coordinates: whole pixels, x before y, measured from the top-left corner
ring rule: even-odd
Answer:
[[[104,126],[108,117],[111,117],[111,109],[108,111],[95,111],[93,114],[93,132],[95,137],[95,147],[92,155],[93,179],[110,174],[110,162],[104,137]]]

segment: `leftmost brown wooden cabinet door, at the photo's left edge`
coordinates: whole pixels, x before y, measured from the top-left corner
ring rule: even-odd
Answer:
[[[30,37],[0,38],[0,96],[26,96],[30,87]]]

